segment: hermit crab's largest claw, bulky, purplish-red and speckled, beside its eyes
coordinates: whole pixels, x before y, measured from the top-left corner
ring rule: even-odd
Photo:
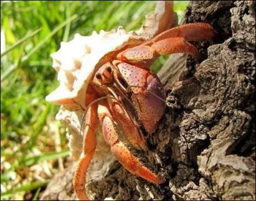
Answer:
[[[127,63],[119,63],[117,67],[132,91],[132,102],[141,123],[148,133],[153,133],[164,114],[163,85],[156,75],[143,68]]]

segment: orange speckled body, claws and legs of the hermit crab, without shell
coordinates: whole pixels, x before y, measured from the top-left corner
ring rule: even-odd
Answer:
[[[79,160],[74,177],[74,189],[77,197],[88,200],[84,191],[86,170],[95,152],[95,122],[102,125],[104,140],[111,147],[116,159],[132,174],[149,182],[161,184],[164,179],[149,170],[136,158],[128,147],[118,138],[120,130],[131,144],[147,149],[144,135],[138,128],[139,121],[147,133],[154,133],[157,123],[164,114],[165,96],[163,86],[150,64],[164,54],[189,53],[198,55],[198,50],[189,41],[210,39],[213,29],[209,24],[193,23],[164,31],[150,41],[119,52],[112,62],[103,64],[90,83],[90,92],[86,104],[86,135],[84,135],[84,156]],[[105,97],[106,99],[100,99]],[[125,104],[127,101],[129,104]],[[134,108],[138,119],[134,120],[128,108]],[[116,128],[118,125],[118,128]]]

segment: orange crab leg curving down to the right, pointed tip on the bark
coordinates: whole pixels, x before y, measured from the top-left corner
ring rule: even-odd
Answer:
[[[103,137],[111,146],[112,153],[116,156],[117,160],[132,174],[138,175],[147,181],[161,184],[163,179],[142,165],[142,163],[133,156],[131,151],[127,149],[125,144],[118,139],[118,133],[116,133],[113,117],[106,105],[107,103],[99,105],[98,115],[100,122],[102,123]]]

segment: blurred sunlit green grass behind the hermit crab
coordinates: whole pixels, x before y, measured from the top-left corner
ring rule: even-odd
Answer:
[[[45,101],[58,86],[50,54],[76,33],[118,26],[136,30],[154,4],[1,1],[1,199],[36,200],[49,179],[67,166],[65,128],[54,119],[59,107]],[[175,11],[181,16],[187,4],[175,2]],[[161,57],[154,69],[164,61]]]

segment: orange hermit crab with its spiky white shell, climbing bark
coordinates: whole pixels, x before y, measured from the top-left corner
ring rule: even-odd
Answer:
[[[163,177],[129,151],[120,133],[137,149],[147,150],[145,135],[154,133],[165,109],[164,89],[156,74],[150,72],[151,64],[165,54],[183,52],[197,56],[198,50],[188,41],[213,36],[212,27],[205,23],[174,27],[177,15],[172,8],[170,1],[158,3],[157,14],[146,20],[148,30],[144,26],[127,33],[119,27],[117,31],[100,31],[92,36],[76,35],[52,54],[60,87],[46,99],[63,105],[63,110],[70,111],[69,118],[75,112],[76,122],[83,119],[77,111],[86,111],[83,126],[76,126],[74,117],[68,121],[68,115],[62,118],[73,131],[83,131],[83,147],[76,157],[79,160],[73,181],[80,200],[89,200],[84,185],[97,147],[97,131],[129,172],[149,182],[164,182]],[[63,116],[63,110],[59,116]]]

